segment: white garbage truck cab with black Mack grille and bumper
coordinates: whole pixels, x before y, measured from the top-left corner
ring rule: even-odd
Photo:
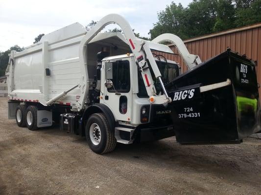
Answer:
[[[175,61],[155,60],[165,74],[165,82],[179,75],[180,66]],[[105,83],[101,85],[99,103],[108,106],[119,123],[115,130],[118,142],[129,144],[175,135],[170,111],[150,103],[133,54],[102,59],[101,80]],[[159,83],[155,82],[155,89],[161,93]]]

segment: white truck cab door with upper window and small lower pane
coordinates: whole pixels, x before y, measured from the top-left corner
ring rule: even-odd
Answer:
[[[115,119],[122,121],[131,120],[131,61],[120,59],[111,63],[105,63],[105,78],[109,76],[113,87],[104,86],[103,102],[111,108]],[[108,79],[108,78],[107,78]]]

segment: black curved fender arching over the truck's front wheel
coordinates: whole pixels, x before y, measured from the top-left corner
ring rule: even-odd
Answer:
[[[110,110],[110,108],[104,104],[95,103],[89,106],[83,113],[82,116],[82,134],[81,136],[85,136],[85,125],[87,123],[88,118],[95,113],[103,113],[108,119],[110,131],[114,132],[114,128],[116,125],[115,117]]]

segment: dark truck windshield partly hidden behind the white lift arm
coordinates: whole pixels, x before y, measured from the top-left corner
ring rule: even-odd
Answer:
[[[179,76],[179,66],[177,64],[166,63],[165,61],[158,61],[158,60],[156,60],[156,63],[161,72],[162,80],[163,80],[164,84],[169,83],[174,78]],[[150,64],[149,64],[149,67],[150,67]],[[155,78],[151,68],[150,68],[150,72],[152,73],[152,78],[153,78],[153,82],[154,82],[154,85],[155,85],[155,88],[157,91],[157,95],[159,95],[160,93],[162,93],[159,79]],[[137,94],[138,97],[147,98],[148,95],[146,92],[144,82],[142,80],[142,74],[140,72],[138,73],[138,83],[139,83],[139,93]]]

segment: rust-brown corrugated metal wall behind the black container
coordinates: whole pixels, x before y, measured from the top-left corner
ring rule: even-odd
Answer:
[[[246,54],[248,58],[258,61],[257,76],[258,82],[261,83],[261,23],[188,39],[184,42],[190,54],[198,55],[202,61],[222,53],[227,47],[241,55]],[[174,46],[171,46],[171,49],[175,54],[178,53]],[[165,54],[165,56],[180,63],[183,72],[187,71],[187,66],[179,55]],[[259,94],[261,96],[261,89]]]

